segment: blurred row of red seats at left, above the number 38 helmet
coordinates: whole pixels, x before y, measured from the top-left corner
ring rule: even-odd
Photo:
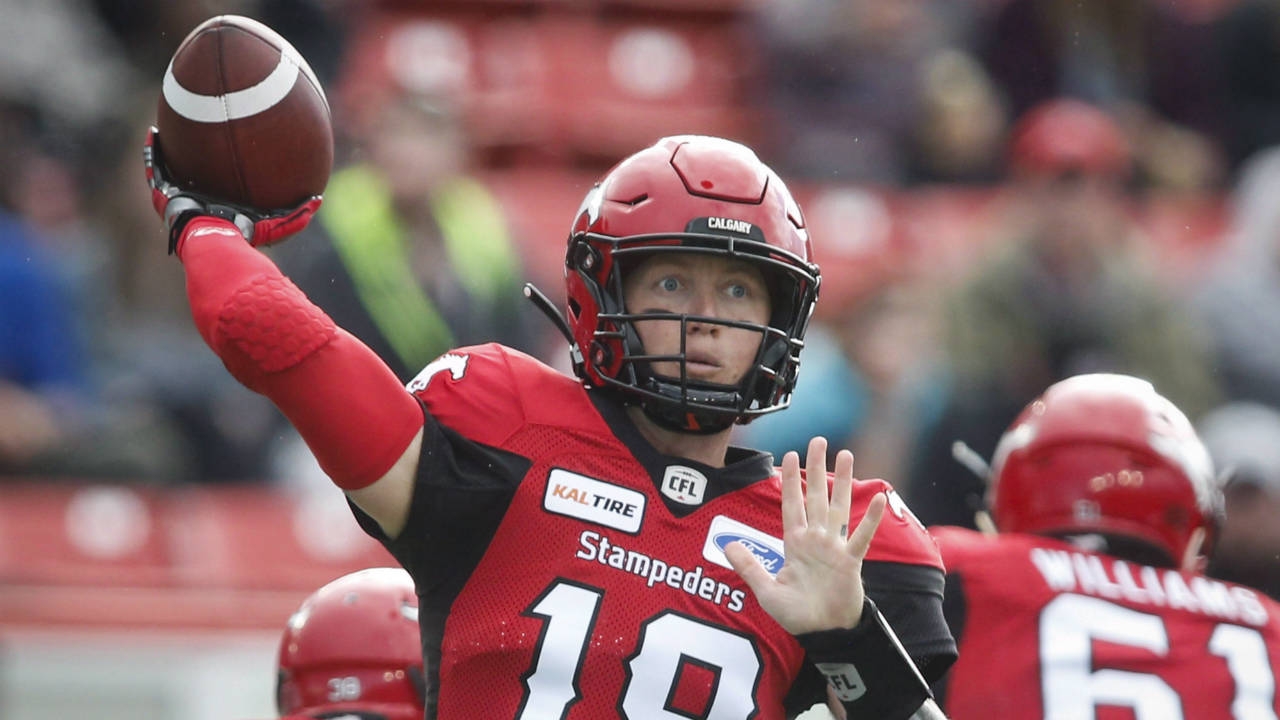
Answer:
[[[6,480],[0,630],[274,630],[321,584],[394,564],[337,491]]]

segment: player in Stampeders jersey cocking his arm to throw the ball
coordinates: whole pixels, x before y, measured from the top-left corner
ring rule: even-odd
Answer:
[[[955,646],[924,528],[847,451],[828,474],[822,438],[808,484],[794,452],[730,447],[787,405],[819,284],[750,149],[663,138],[588,192],[568,318],[526,288],[576,379],[490,343],[407,388],[252,247],[315,200],[227,208],[165,179],[155,135],[146,158],[196,327],[413,577],[428,717],[781,719],[828,692],[938,716],[925,683]]]

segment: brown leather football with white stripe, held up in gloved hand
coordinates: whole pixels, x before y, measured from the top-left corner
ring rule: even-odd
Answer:
[[[183,188],[259,210],[324,192],[333,169],[329,102],[279,33],[239,15],[200,24],[169,61],[160,149]]]

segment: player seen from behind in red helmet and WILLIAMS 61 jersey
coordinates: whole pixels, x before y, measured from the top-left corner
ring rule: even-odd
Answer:
[[[960,644],[951,717],[1275,720],[1280,606],[1201,574],[1220,491],[1148,382],[1051,386],[1001,437],[989,483],[998,534],[933,529]]]

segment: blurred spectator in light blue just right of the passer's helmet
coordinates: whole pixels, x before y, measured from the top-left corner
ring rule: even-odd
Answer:
[[[859,477],[883,478],[902,492],[911,454],[948,392],[937,354],[936,300],[924,286],[899,279],[812,327],[794,411],[745,425],[744,445],[781,457],[823,436],[832,454],[854,451]]]

